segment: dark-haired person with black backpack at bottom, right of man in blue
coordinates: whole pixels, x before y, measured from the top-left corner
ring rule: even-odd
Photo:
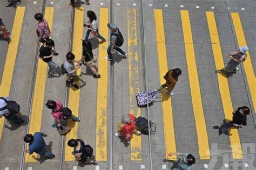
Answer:
[[[70,139],[68,141],[68,146],[73,147],[72,152],[75,155],[75,160],[79,162],[87,162],[97,165],[97,160],[90,159],[92,157],[93,149],[90,145],[85,145],[84,141],[81,139]]]

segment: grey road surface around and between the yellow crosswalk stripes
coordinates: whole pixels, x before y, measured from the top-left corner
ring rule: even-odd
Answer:
[[[50,4],[53,2],[53,4]],[[57,52],[59,56],[54,58],[59,66],[65,59],[65,54],[69,50],[70,41],[70,21],[71,21],[71,6],[66,5],[68,1],[47,1],[46,6],[55,8],[53,16],[52,39],[55,40]],[[104,5],[100,5],[100,3]],[[93,10],[99,18],[100,8],[110,8],[110,1],[92,1],[90,6],[84,4],[83,1],[78,1],[78,6],[84,7],[84,22],[87,20],[86,11]],[[119,3],[120,5],[117,5]],[[136,6],[133,6],[136,3]],[[152,4],[150,6],[149,4]],[[165,6],[167,4],[168,6]],[[12,30],[12,24],[15,17],[15,8],[5,8],[5,1],[0,2],[0,17],[8,27]],[[136,9],[137,14],[137,39],[138,39],[138,56],[139,56],[139,82],[140,90],[145,90],[143,76],[143,60],[142,60],[142,30],[140,27],[139,6],[138,1],[113,1],[113,20],[122,31],[124,36],[124,45],[122,49],[127,52],[127,9]],[[156,34],[154,23],[154,9],[163,9],[164,31],[166,40],[166,52],[169,68],[181,68],[183,71],[179,82],[173,90],[172,108],[173,121],[176,137],[177,152],[190,152],[197,158],[194,169],[204,169],[204,164],[208,165],[208,169],[225,169],[224,164],[229,165],[229,169],[255,169],[255,128],[253,119],[255,115],[247,116],[247,126],[239,129],[239,136],[244,151],[243,160],[234,160],[230,153],[221,154],[222,152],[231,151],[230,139],[212,129],[213,125],[217,125],[225,118],[223,105],[219,93],[219,84],[215,71],[215,63],[212,53],[211,39],[208,32],[208,25],[205,11],[213,11],[215,21],[218,28],[221,51],[224,56],[226,53],[235,51],[238,47],[235,37],[232,19],[228,12],[239,12],[242,27],[244,29],[247,45],[250,48],[252,65],[255,72],[255,1],[235,1],[235,0],[214,0],[214,1],[143,1],[143,20],[144,20],[144,36],[145,36],[145,56],[147,65],[147,87],[154,89],[160,86]],[[180,5],[184,5],[183,8]],[[196,6],[199,6],[199,9]],[[35,47],[36,47],[36,20],[33,15],[36,12],[41,12],[42,1],[37,1],[33,4],[32,1],[23,0],[18,6],[26,6],[25,16],[23,20],[22,34],[19,40],[19,48],[15,63],[14,77],[12,79],[10,98],[14,98],[21,104],[21,112],[24,118],[28,112],[29,94],[31,90],[32,68],[35,62]],[[214,6],[214,9],[211,7]],[[227,8],[230,8],[227,10]],[[242,11],[241,8],[245,8]],[[198,159],[198,140],[196,133],[196,125],[194,123],[194,114],[190,94],[190,83],[188,79],[188,70],[185,56],[185,46],[183,38],[183,30],[181,25],[180,10],[188,10],[190,13],[190,23],[192,29],[192,37],[194,42],[194,53],[197,62],[199,85],[201,90],[201,100],[205,115],[207,128],[208,142],[211,149],[211,160]],[[111,11],[109,11],[111,12]],[[8,14],[8,15],[7,15]],[[109,13],[111,15],[111,13]],[[86,30],[83,35],[85,36]],[[106,38],[106,37],[105,37]],[[98,56],[97,40],[92,40],[93,53]],[[3,41],[0,36],[0,81],[2,80],[3,66],[5,56],[8,51],[8,42]],[[78,59],[80,56],[76,56]],[[129,57],[129,56],[128,56]],[[122,55],[115,54],[116,62],[114,62],[114,91],[113,91],[113,134],[117,130],[117,124],[120,122],[123,114],[130,112],[130,94],[129,94],[129,68],[128,58],[123,59]],[[29,62],[28,62],[29,61]],[[97,67],[97,64],[96,64]],[[244,66],[239,66],[241,70],[237,74],[228,78],[228,86],[230,89],[233,108],[237,109],[241,105],[252,104],[251,95],[248,94],[248,83],[244,71]],[[109,64],[109,77],[111,66]],[[97,107],[97,80],[92,77],[92,73],[86,67],[82,68],[82,77],[86,82],[86,86],[80,89],[79,116],[81,122],[78,123],[78,138],[85,141],[95,148],[96,142],[96,107]],[[100,73],[99,73],[100,74]],[[46,79],[44,103],[47,100],[59,100],[63,102],[65,99],[65,76],[58,78],[51,77]],[[110,79],[109,79],[110,84]],[[109,86],[109,94],[111,87]],[[250,93],[248,91],[248,93]],[[110,110],[111,96],[108,96],[108,108]],[[172,162],[164,161],[165,159],[165,141],[163,129],[163,114],[161,111],[160,98],[149,108],[150,119],[157,124],[157,132],[151,136],[151,150],[153,169],[162,169],[166,165],[170,169]],[[254,112],[254,110],[252,110]],[[141,109],[141,114],[147,116],[146,109]],[[110,150],[110,126],[109,117],[107,121],[107,146]],[[59,169],[60,153],[62,151],[62,137],[56,132],[56,129],[51,128],[53,118],[50,115],[50,110],[43,108],[41,131],[48,133],[45,139],[46,144],[52,141],[51,150],[56,154],[53,160],[39,160],[36,163],[25,163],[24,169],[32,167],[32,169]],[[10,124],[5,121],[5,127],[2,133],[2,141],[0,141],[0,167],[4,169],[18,169],[22,155],[23,139],[26,125],[16,128],[8,128]],[[19,139],[19,140],[17,140]],[[15,142],[12,142],[15,141]],[[67,141],[65,141],[67,142]],[[119,169],[119,165],[123,165],[123,169],[140,169],[140,165],[145,165],[145,169],[150,169],[149,165],[149,140],[147,136],[142,136],[142,161],[130,160],[130,145],[125,147],[120,139],[113,136],[113,169]],[[250,155],[247,155],[250,154]],[[214,156],[217,155],[217,156]],[[254,156],[253,156],[254,155]],[[250,168],[245,168],[247,163]],[[63,169],[96,169],[95,165],[81,166],[78,162],[63,162]],[[98,163],[100,169],[110,169],[110,152],[107,155],[107,161]],[[254,167],[253,167],[254,166]],[[226,168],[227,169],[227,168]]]

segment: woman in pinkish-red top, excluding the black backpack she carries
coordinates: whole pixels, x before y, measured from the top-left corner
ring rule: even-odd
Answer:
[[[59,101],[51,101],[48,100],[48,102],[45,104],[46,107],[48,107],[49,109],[52,110],[51,115],[53,116],[53,118],[55,118],[55,125],[52,125],[53,128],[55,128],[55,126],[57,125],[57,127],[59,127],[61,125],[61,122],[63,121],[63,115],[62,115],[62,103],[60,103]],[[76,117],[75,115],[71,115],[70,118],[73,121],[80,121],[79,117]]]

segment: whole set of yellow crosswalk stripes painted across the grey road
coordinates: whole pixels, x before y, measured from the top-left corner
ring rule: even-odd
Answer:
[[[45,8],[45,18],[48,20],[49,27],[52,29],[53,18],[54,18],[54,8],[53,7],[46,7]],[[2,96],[9,96],[10,87],[12,82],[12,74],[15,66],[15,60],[17,55],[17,49],[19,44],[19,36],[22,31],[22,23],[24,19],[24,7],[17,7],[16,16],[14,20],[14,28],[15,30],[12,31],[14,38],[12,38],[8,53],[6,55],[6,62],[3,72],[2,84],[0,87],[0,93]],[[139,49],[138,44],[140,43],[140,39],[138,38],[138,30],[139,27],[139,20],[137,19],[137,9],[127,9],[127,32],[122,30],[123,34],[127,33],[127,60],[129,65],[129,91],[130,91],[130,113],[135,115],[136,117],[140,116],[140,108],[137,107],[136,101],[136,94],[139,91],[143,90],[143,87],[140,87],[141,80],[139,75],[143,74],[139,72]],[[154,31],[156,33],[156,49],[157,49],[157,58],[158,58],[158,65],[157,68],[159,69],[159,76],[156,81],[160,82],[160,84],[164,84],[165,80],[163,76],[172,68],[172,63],[168,67],[168,54],[166,53],[166,40],[165,40],[165,25],[164,25],[164,15],[163,11],[160,9],[153,10],[154,23],[152,25]],[[82,56],[82,41],[81,38],[83,37],[83,22],[84,22],[84,15],[85,10],[84,8],[75,8],[75,19],[74,19],[74,27],[73,27],[73,46],[72,46],[72,53],[75,54],[77,59],[80,59]],[[238,45],[244,46],[247,45],[245,39],[245,32],[242,29],[242,23],[239,17],[239,13],[231,13],[232,22],[235,30],[235,34],[237,37]],[[221,44],[219,40],[218,34],[218,27],[216,24],[216,20],[214,17],[214,12],[206,11],[205,18],[208,24],[208,32],[211,38],[212,44],[212,57],[214,58],[215,67],[216,69],[224,68],[224,56],[221,50]],[[180,22],[182,24],[183,30],[183,38],[184,38],[184,46],[185,46],[185,55],[186,55],[186,65],[188,70],[188,80],[190,84],[190,94],[191,94],[191,101],[192,101],[192,108],[194,114],[194,121],[196,122],[196,126],[193,127],[197,131],[197,141],[198,141],[198,153],[200,159],[211,159],[210,153],[210,144],[211,141],[208,139],[208,132],[210,129],[206,127],[205,121],[205,112],[204,112],[204,105],[202,101],[202,91],[200,89],[200,77],[198,75],[198,68],[196,62],[196,54],[195,54],[195,47],[193,44],[193,30],[191,28],[191,23],[193,20],[190,19],[190,13],[188,10],[180,10]],[[107,28],[107,23],[109,23],[109,9],[101,8],[99,11],[99,31],[103,37],[109,37],[109,29]],[[52,30],[52,34],[54,34],[57,30]],[[109,87],[109,61],[104,60],[104,56],[107,56],[107,46],[109,45],[109,41],[106,41],[103,44],[99,44],[98,49],[98,72],[101,74],[101,78],[98,79],[97,84],[95,84],[95,88],[97,90],[97,102],[96,102],[96,131],[91,132],[91,137],[96,138],[95,144],[95,155],[98,161],[107,161],[109,158],[109,147],[108,147],[108,140],[109,140],[109,118],[108,112],[109,108],[107,104],[109,101],[108,97],[108,90],[111,88]],[[145,42],[145,46],[146,46]],[[172,51],[172,49],[171,49]],[[250,51],[250,49],[249,49]],[[253,64],[251,60],[250,53],[247,52],[247,59],[243,63],[245,68],[245,75],[247,78],[248,87],[250,89],[250,95],[253,102],[253,108],[256,107],[256,100],[255,100],[255,76],[253,70]],[[33,90],[33,97],[32,97],[32,109],[31,109],[31,116],[29,121],[29,133],[35,133],[41,130],[42,127],[42,114],[43,114],[43,107],[45,101],[45,93],[48,93],[47,89],[45,89],[46,84],[46,76],[47,76],[47,65],[42,60],[38,60],[37,63],[37,72],[36,72],[36,79],[35,79],[35,88]],[[80,75],[81,72],[78,69],[77,74]],[[218,77],[218,84],[219,84],[219,93],[221,97],[221,102],[223,104],[223,111],[225,119],[231,120],[232,119],[232,111],[235,109],[233,108],[231,93],[227,81],[227,77],[225,75],[217,75]],[[83,79],[83,77],[82,77]],[[81,84],[78,84],[81,85]],[[93,97],[93,96],[92,96]],[[69,90],[69,98],[67,107],[72,110],[73,115],[79,116],[83,111],[79,110],[79,102],[80,101],[80,89],[70,88]],[[161,108],[163,114],[163,130],[164,130],[164,140],[165,140],[165,152],[166,158],[169,152],[176,152],[177,146],[176,143],[176,130],[174,127],[174,119],[173,119],[173,107],[172,105],[172,98],[162,92],[162,100],[161,100]],[[89,117],[88,117],[89,119]],[[71,138],[78,138],[78,127],[83,126],[86,129],[85,124],[79,124],[77,122],[68,121],[68,125],[72,127],[70,133],[66,135],[66,143]],[[4,126],[4,119],[0,119],[0,141],[3,134],[3,126]],[[239,137],[239,133],[237,129],[231,129],[229,132],[230,135],[230,145],[231,150],[233,153],[233,159],[242,159],[242,147],[241,141]],[[65,143],[65,152],[64,152],[64,160],[65,161],[75,161],[71,152],[73,151],[72,147],[69,147]],[[147,147],[143,146],[142,137],[140,136],[133,136],[131,140],[130,146],[130,159],[132,161],[142,161],[142,148]],[[36,154],[25,156],[25,162],[36,162],[35,159],[37,157]],[[173,155],[171,158],[172,160],[176,160],[176,155]]]

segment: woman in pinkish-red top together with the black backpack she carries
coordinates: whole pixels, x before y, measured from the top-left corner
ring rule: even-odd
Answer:
[[[55,118],[55,124],[52,125],[53,128],[55,128],[56,126],[60,127],[62,121],[65,121],[67,119],[72,119],[72,121],[80,122],[80,118],[73,115],[70,109],[63,108],[62,103],[60,103],[59,101],[48,100],[45,105],[47,108],[52,110],[51,115],[53,116],[53,118]],[[66,114],[66,112],[68,112],[68,114]]]

